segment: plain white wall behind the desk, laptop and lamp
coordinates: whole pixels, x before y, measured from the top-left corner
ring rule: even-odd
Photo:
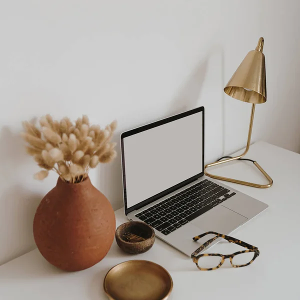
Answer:
[[[0,264],[34,247],[32,218],[53,174],[24,154],[21,121],[82,113],[118,132],[206,109],[206,161],[242,147],[250,105],[222,88],[264,36],[267,102],[253,141],[300,150],[297,0],[9,0],[0,4]],[[230,134],[229,134],[230,133]],[[120,159],[91,174],[114,208]]]

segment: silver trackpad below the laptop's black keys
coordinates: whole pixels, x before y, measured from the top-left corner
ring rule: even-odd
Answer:
[[[246,220],[247,218],[243,215],[222,205],[218,205],[195,218],[191,223],[205,232],[216,231],[218,233],[228,234]]]

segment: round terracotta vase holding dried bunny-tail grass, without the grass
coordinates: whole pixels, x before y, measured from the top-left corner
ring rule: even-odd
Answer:
[[[79,183],[60,178],[37,207],[34,240],[44,258],[66,271],[99,262],[108,252],[115,232],[115,216],[107,198],[87,177]]]

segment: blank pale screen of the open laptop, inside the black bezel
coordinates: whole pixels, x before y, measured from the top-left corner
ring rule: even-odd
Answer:
[[[127,208],[203,171],[202,114],[123,138]]]

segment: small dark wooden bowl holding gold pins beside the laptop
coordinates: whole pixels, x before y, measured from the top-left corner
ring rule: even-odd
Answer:
[[[124,233],[133,233],[145,238],[142,241],[129,242],[122,239]],[[155,240],[155,233],[151,226],[144,222],[132,221],[119,225],[115,230],[115,240],[117,245],[127,253],[138,254],[148,251]]]

